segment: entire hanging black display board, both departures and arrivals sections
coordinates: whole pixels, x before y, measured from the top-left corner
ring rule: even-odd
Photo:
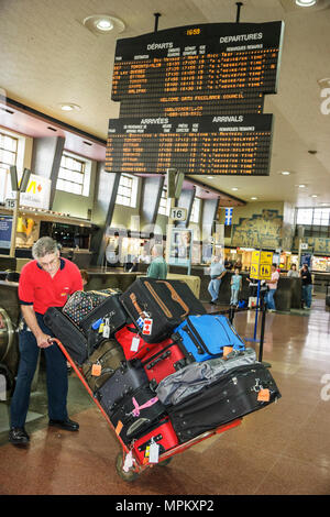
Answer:
[[[210,23],[117,42],[106,170],[270,174],[283,22]]]

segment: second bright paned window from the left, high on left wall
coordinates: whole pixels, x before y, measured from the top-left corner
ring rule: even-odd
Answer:
[[[63,154],[58,178],[57,190],[77,194],[79,196],[89,195],[90,162],[72,154]]]

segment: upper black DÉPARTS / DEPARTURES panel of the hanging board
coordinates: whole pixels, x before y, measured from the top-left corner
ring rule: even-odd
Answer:
[[[282,22],[211,23],[119,40],[112,100],[276,92]]]

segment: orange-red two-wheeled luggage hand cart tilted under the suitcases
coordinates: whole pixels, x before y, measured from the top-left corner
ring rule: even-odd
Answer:
[[[116,432],[116,429],[114,429],[114,426],[112,425],[109,416],[107,415],[107,413],[105,411],[105,409],[102,408],[102,406],[100,405],[99,400],[95,397],[91,388],[89,387],[89,385],[87,384],[82,373],[81,373],[81,369],[79,369],[76,363],[74,362],[74,360],[70,358],[70,355],[68,354],[68,352],[66,351],[65,346],[62,344],[62,342],[56,339],[56,338],[52,338],[50,341],[52,342],[55,342],[59,349],[62,350],[62,352],[64,353],[65,358],[67,359],[67,361],[69,362],[69,364],[72,365],[72,367],[74,369],[74,372],[76,373],[76,375],[78,376],[78,378],[80,380],[80,382],[84,384],[86,391],[88,392],[88,394],[90,395],[90,397],[92,398],[92,400],[95,402],[95,404],[98,406],[98,408],[100,409],[101,414],[103,415],[103,417],[106,418],[107,422],[109,424],[110,428],[113,430],[113,432]],[[116,459],[116,469],[117,469],[117,473],[118,475],[127,481],[127,482],[132,482],[134,480],[136,480],[139,477],[139,475],[147,468],[152,468],[152,466],[155,466],[155,465],[160,465],[160,466],[165,466],[165,465],[168,465],[168,463],[170,462],[172,458],[175,455],[175,454],[178,454],[180,452],[184,452],[186,451],[187,449],[189,449],[190,447],[193,446],[196,446],[197,443],[204,441],[204,440],[207,440],[208,438],[215,436],[215,435],[220,435],[229,429],[233,429],[234,427],[238,427],[240,426],[242,422],[242,418],[238,418],[235,420],[232,420],[228,424],[224,424],[222,426],[219,426],[218,428],[216,429],[212,429],[210,431],[207,431],[207,432],[204,432],[202,435],[199,435],[198,437],[195,437],[193,438],[191,440],[185,442],[185,443],[180,443],[176,447],[174,447],[173,449],[169,449],[167,451],[165,451],[164,453],[160,454],[160,458],[158,458],[158,463],[141,463],[141,461],[139,461],[139,458],[134,454],[134,450],[131,449],[130,447],[128,447],[120,438],[120,436],[118,433],[117,437],[118,437],[118,440],[121,444],[121,448],[122,448],[122,451],[117,455],[117,459]],[[125,458],[127,455],[131,453],[132,454],[132,466],[129,469],[129,470],[124,470],[124,462],[125,462]]]

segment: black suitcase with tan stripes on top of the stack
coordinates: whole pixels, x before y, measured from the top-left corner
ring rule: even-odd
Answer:
[[[206,314],[183,280],[138,278],[121,295],[120,301],[147,343],[158,343],[168,338],[188,315]]]

